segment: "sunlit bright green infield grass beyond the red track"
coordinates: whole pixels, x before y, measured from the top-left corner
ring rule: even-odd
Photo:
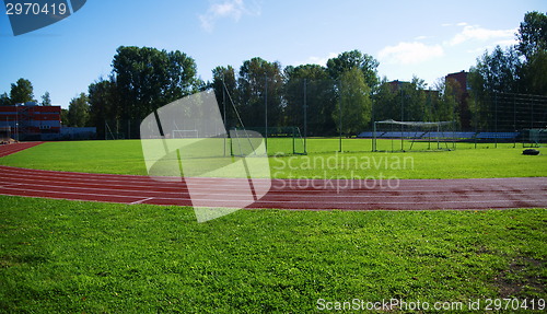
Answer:
[[[274,142],[270,139],[269,142]],[[498,149],[457,149],[444,152],[335,153],[338,140],[311,139],[309,155],[271,156],[277,178],[475,178],[547,176],[547,150],[542,155],[522,155],[522,149],[505,144]],[[348,150],[370,150],[370,140],[349,139]],[[459,143],[465,148],[473,144]],[[482,144],[485,146],[485,144]],[[500,144],[501,147],[501,144]],[[331,149],[322,152],[322,148]],[[405,164],[403,163],[404,161]],[[399,166],[397,166],[397,162]],[[47,142],[0,158],[0,164],[30,168],[147,175],[139,140]]]

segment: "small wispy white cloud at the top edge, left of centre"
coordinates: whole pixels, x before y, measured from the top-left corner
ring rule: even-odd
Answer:
[[[260,10],[258,8],[249,9],[243,3],[243,0],[224,0],[212,2],[207,12],[199,15],[199,21],[203,30],[212,32],[214,30],[214,23],[219,19],[230,18],[237,22],[243,15],[259,14]]]

